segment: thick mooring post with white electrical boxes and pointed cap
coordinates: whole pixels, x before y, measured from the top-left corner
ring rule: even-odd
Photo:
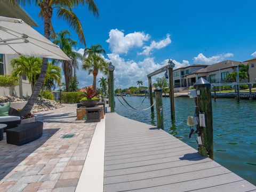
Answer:
[[[197,108],[199,115],[198,152],[213,159],[213,124],[212,124],[212,95],[211,84],[204,78],[194,84],[197,91]],[[199,141],[199,139],[202,140]]]

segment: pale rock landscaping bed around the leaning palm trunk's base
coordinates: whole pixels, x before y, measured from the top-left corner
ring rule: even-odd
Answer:
[[[10,97],[10,96],[0,96],[0,103],[5,102],[21,102],[21,101],[28,101],[29,97]],[[37,113],[40,111],[47,111],[53,109],[59,109],[64,107],[61,103],[58,103],[54,100],[49,99],[37,99],[32,111],[33,113]]]

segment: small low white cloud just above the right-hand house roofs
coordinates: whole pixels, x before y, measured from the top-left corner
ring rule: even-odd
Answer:
[[[203,53],[199,53],[196,57],[193,58],[195,63],[200,63],[200,64],[213,64],[220,62],[222,60],[225,60],[226,58],[233,57],[233,53],[226,53],[226,54],[218,54],[214,55],[212,57],[205,57]]]

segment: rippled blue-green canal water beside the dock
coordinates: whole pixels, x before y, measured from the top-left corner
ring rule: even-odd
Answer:
[[[138,106],[144,98],[125,99],[132,106]],[[123,102],[121,97],[119,100]],[[156,125],[156,113],[151,114],[150,109],[137,111],[125,108],[117,98],[115,103],[119,115]],[[138,109],[149,106],[149,98],[146,98]],[[163,106],[164,130],[197,149],[195,138],[188,137],[190,129],[187,126],[187,116],[194,115],[194,100],[175,98],[175,122],[171,122],[169,98],[163,98]],[[256,102],[242,100],[237,103],[235,99],[218,99],[217,102],[212,101],[212,108],[214,160],[256,185]]]

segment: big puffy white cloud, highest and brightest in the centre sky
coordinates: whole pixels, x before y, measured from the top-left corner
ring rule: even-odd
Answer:
[[[127,53],[132,47],[142,47],[149,38],[150,36],[143,32],[124,35],[124,32],[121,30],[111,29],[107,42],[112,53],[121,54]]]

